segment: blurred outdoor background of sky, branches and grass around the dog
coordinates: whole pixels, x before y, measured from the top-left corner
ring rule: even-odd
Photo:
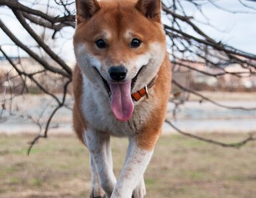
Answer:
[[[89,196],[72,131],[75,14],[74,0],[0,0],[0,197]],[[255,17],[255,1],[162,1],[173,80],[147,197],[255,196]],[[113,139],[117,176],[126,146]]]

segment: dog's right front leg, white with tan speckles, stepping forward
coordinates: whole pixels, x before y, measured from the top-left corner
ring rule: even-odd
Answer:
[[[141,178],[151,160],[153,148],[145,149],[136,141],[136,138],[129,139],[127,158],[115,185],[111,198],[131,198],[133,190],[141,184]],[[134,198],[143,198],[145,193],[136,193]]]

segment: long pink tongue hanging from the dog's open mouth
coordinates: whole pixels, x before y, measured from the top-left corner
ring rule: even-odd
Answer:
[[[131,99],[131,81],[109,82],[111,90],[111,110],[120,121],[127,121],[133,114],[133,100]]]

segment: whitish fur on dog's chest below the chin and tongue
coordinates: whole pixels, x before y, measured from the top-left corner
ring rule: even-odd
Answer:
[[[153,94],[153,89],[151,89],[151,94]],[[92,82],[88,81],[83,74],[81,107],[90,129],[111,133],[111,135],[119,137],[133,135],[138,133],[146,123],[147,117],[154,109],[154,104],[157,104],[157,102],[151,101],[150,98],[148,100],[143,98],[142,101],[135,102],[135,110],[129,121],[118,121],[111,112],[109,98],[99,88],[96,88]]]

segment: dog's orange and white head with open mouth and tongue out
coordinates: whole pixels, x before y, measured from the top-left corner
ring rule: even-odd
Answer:
[[[164,60],[160,0],[76,0],[76,9],[78,65],[109,95],[117,119],[126,121],[131,93],[149,83]]]

